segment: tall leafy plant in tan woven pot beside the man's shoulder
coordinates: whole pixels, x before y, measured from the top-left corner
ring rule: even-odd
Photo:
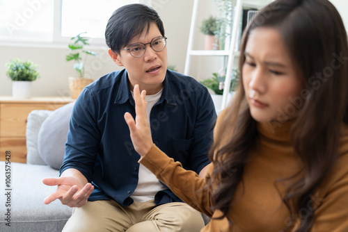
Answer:
[[[79,35],[71,38],[73,42],[68,45],[70,53],[65,57],[66,61],[74,61],[74,69],[78,74],[77,77],[69,77],[69,89],[72,99],[77,99],[84,87],[93,82],[93,79],[84,76],[85,65],[88,56],[98,56],[94,51],[84,49],[85,46],[89,45],[88,40],[90,40],[86,36],[81,36],[84,33],[86,32],[79,33]]]

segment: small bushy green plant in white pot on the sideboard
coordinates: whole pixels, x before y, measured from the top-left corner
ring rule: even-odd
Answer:
[[[6,63],[6,75],[12,80],[12,94],[14,98],[31,98],[31,82],[40,76],[37,68],[30,60],[22,61],[18,58]]]

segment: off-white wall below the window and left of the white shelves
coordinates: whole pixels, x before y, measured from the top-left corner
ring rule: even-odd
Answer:
[[[208,1],[208,0],[207,0]],[[184,70],[189,26],[193,0],[152,0],[158,11],[166,36],[168,37],[168,63],[175,65],[179,72]],[[100,54],[99,58],[90,57],[90,78],[97,79],[109,72],[122,69],[113,63],[107,47],[90,48]],[[72,63],[65,61],[68,45],[63,47],[18,47],[3,45],[0,42],[0,95],[12,94],[12,83],[5,74],[4,64],[10,59],[32,60],[38,64],[41,78],[33,81],[33,96],[68,96],[68,76],[76,76]]]

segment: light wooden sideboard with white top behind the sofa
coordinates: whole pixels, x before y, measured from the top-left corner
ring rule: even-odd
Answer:
[[[74,99],[66,97],[33,97],[13,99],[0,97],[0,160],[11,151],[11,161],[26,163],[26,118],[32,110],[55,110]]]

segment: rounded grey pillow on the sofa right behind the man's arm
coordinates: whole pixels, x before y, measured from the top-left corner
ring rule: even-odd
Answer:
[[[38,151],[42,160],[54,169],[63,164],[65,142],[74,101],[54,112],[42,123],[38,134]]]

